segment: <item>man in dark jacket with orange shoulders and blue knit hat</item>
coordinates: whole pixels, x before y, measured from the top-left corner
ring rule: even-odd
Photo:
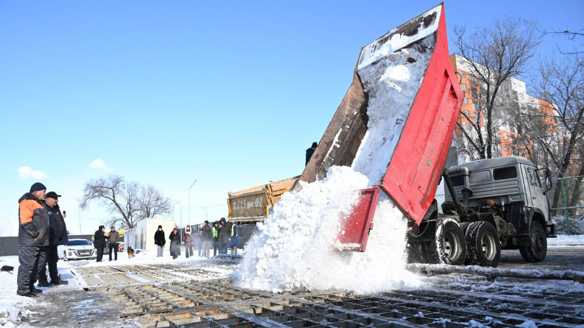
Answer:
[[[43,200],[47,192],[44,184],[37,182],[30,187],[30,193],[18,200],[18,290],[20,296],[34,297],[41,293],[34,287],[40,266],[46,263],[48,245],[48,214]]]

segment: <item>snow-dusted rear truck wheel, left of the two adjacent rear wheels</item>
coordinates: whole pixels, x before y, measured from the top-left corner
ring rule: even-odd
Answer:
[[[434,241],[426,249],[430,263],[461,266],[467,254],[463,229],[451,218],[438,219]]]

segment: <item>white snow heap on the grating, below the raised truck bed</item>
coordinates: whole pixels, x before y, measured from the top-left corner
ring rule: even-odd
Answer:
[[[387,197],[376,211],[367,252],[335,252],[342,219],[352,210],[365,176],[333,166],[322,182],[303,184],[284,194],[272,218],[258,224],[259,233],[246,247],[239,267],[245,288],[350,289],[374,292],[418,286],[405,267],[405,218]]]

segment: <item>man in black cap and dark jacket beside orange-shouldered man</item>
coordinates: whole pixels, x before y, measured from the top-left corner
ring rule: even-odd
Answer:
[[[67,226],[65,225],[64,215],[59,208],[59,197],[54,191],[49,191],[44,197],[44,208],[48,215],[48,246],[47,246],[47,264],[48,274],[51,282],[47,281],[47,269],[44,264],[40,268],[39,287],[49,287],[50,285],[67,284],[67,280],[61,280],[57,271],[57,262],[59,256],[57,247],[67,245],[69,238],[67,236]]]

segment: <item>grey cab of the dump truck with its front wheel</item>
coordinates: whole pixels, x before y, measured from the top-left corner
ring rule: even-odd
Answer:
[[[545,176],[545,187],[539,172]],[[463,213],[456,210],[447,189],[443,215],[457,216],[461,226],[487,221],[495,226],[502,249],[519,249],[527,261],[543,260],[545,238],[555,237],[547,169],[538,169],[526,158],[507,156],[453,166],[447,173]]]

